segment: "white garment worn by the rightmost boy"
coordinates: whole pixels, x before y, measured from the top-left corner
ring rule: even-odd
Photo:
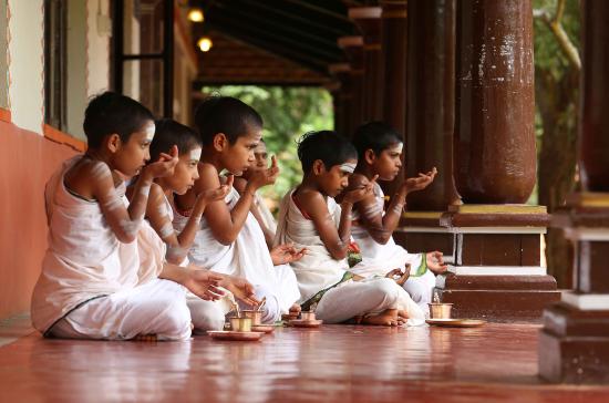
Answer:
[[[381,186],[375,184],[374,196],[376,209],[383,210],[384,195]],[[355,223],[360,219],[360,213],[353,213]],[[395,244],[390,237],[386,244],[376,242],[368,229],[361,225],[353,225],[351,235],[361,250],[362,261],[349,269],[349,271],[365,278],[384,277],[393,269],[404,269],[410,265],[410,278],[404,283],[404,290],[419,304],[425,314],[429,314],[427,303],[432,301],[435,287],[435,275],[426,268],[424,254],[409,254],[406,249]]]

